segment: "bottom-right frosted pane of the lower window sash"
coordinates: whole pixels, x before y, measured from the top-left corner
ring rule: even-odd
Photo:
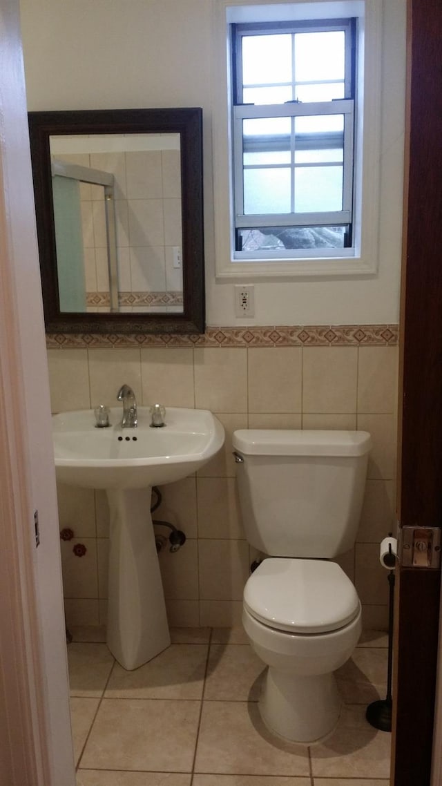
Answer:
[[[297,167],[295,212],[342,210],[343,167]]]

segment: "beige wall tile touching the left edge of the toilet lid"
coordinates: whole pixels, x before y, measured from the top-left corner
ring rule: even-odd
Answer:
[[[201,599],[240,601],[245,582],[249,578],[247,543],[200,540],[198,552]]]

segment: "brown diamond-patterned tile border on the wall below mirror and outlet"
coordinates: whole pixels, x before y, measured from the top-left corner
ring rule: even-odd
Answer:
[[[184,333],[48,333],[48,349],[116,347],[385,347],[398,343],[398,325],[208,327]]]

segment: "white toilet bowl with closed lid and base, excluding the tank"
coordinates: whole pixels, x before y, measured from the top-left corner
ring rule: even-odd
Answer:
[[[333,672],[361,633],[355,588],[336,563],[267,558],[245,585],[242,623],[268,666],[260,714],[285,740],[314,742],[333,730],[341,697]]]

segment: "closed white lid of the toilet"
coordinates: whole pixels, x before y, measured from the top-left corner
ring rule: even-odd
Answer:
[[[249,577],[244,603],[264,625],[300,634],[337,630],[359,612],[352,582],[325,560],[268,557]]]

